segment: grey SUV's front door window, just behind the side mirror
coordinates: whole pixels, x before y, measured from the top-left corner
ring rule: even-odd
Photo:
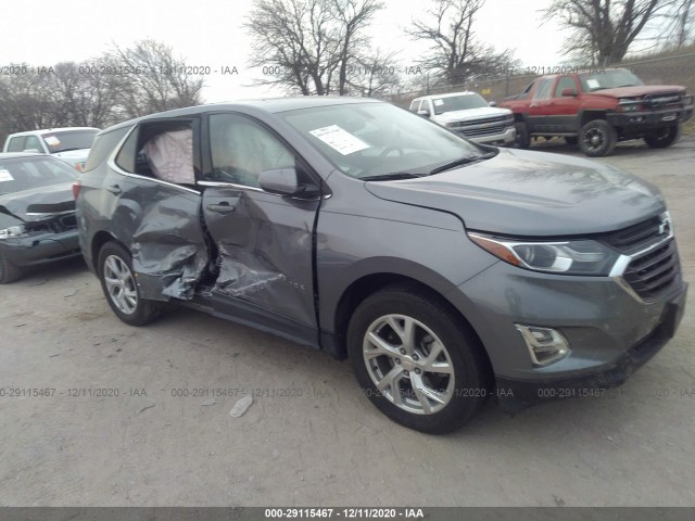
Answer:
[[[244,116],[210,116],[212,175],[206,180],[260,187],[264,170],[294,168],[294,154],[268,130]]]

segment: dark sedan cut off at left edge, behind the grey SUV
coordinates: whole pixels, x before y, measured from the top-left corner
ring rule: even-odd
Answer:
[[[72,192],[77,174],[50,155],[0,153],[0,284],[28,266],[80,256]]]

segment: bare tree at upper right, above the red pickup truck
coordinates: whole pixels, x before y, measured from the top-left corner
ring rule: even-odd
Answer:
[[[544,14],[571,30],[568,52],[605,66],[621,62],[637,36],[671,4],[672,0],[554,0]]]

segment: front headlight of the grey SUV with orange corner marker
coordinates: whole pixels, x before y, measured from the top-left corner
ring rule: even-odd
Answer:
[[[592,240],[523,241],[469,232],[471,241],[505,263],[535,271],[607,276],[620,254]]]

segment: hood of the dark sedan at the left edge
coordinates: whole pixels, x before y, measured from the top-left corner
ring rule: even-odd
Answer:
[[[73,186],[70,182],[0,195],[0,212],[25,223],[74,211],[75,200]]]

